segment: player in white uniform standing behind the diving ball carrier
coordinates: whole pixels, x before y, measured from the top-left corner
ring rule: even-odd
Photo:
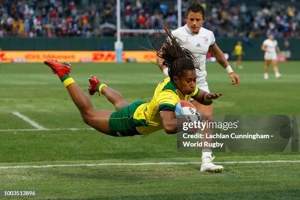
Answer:
[[[236,75],[231,69],[228,61],[226,60],[222,50],[216,44],[215,36],[212,31],[207,30],[202,26],[205,20],[205,9],[199,3],[192,3],[186,12],[186,21],[187,24],[177,28],[172,31],[172,34],[178,38],[177,42],[182,48],[190,50],[195,57],[198,59],[200,70],[197,72],[197,86],[206,92],[209,92],[208,84],[205,80],[206,71],[205,71],[205,59],[206,53],[210,51],[220,65],[228,73],[231,84],[239,85],[239,76]],[[162,72],[168,76],[168,68],[163,65],[163,59],[157,58],[157,64],[160,66]],[[211,116],[213,113],[213,106],[211,105],[202,105],[196,100],[191,100],[191,102],[196,106],[197,109],[200,109],[204,112],[205,115]],[[212,117],[209,117],[209,121],[212,121]],[[205,128],[203,133],[212,134],[211,128]],[[211,139],[201,139],[202,142],[212,142]],[[212,163],[214,156],[212,156],[211,148],[202,148],[202,165],[201,172],[217,172],[223,169],[221,165],[215,165]]]

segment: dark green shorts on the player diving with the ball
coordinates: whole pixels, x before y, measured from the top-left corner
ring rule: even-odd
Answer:
[[[121,110],[113,112],[109,117],[109,129],[115,136],[134,136],[141,135],[135,127],[140,126],[139,120],[133,119],[135,110],[146,103],[145,101],[136,101]]]

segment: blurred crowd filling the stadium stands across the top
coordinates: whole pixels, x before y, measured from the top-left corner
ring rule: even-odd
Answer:
[[[177,27],[172,0],[121,0],[122,28],[154,29],[164,20]],[[203,27],[216,37],[300,37],[296,0],[199,0],[206,8]],[[189,0],[182,0],[182,24]],[[114,36],[116,0],[0,0],[0,37]],[[125,34],[132,35],[132,34]]]

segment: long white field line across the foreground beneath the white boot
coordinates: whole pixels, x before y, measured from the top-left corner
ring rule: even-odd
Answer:
[[[232,161],[214,162],[217,164],[253,164],[253,163],[300,163],[300,160],[266,160],[266,161]],[[94,167],[94,166],[116,166],[116,165],[189,165],[201,162],[157,162],[157,163],[99,163],[99,164],[75,164],[75,165],[23,165],[23,166],[0,166],[0,169],[25,169],[25,168],[53,168],[53,167]]]

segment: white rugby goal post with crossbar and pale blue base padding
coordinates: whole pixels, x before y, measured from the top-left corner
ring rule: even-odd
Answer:
[[[121,28],[121,0],[117,0],[117,41],[115,42],[116,62],[123,62],[123,42],[121,33],[156,33],[155,29],[122,29]],[[177,27],[181,27],[181,0],[177,0]],[[160,30],[164,32],[164,30]]]

